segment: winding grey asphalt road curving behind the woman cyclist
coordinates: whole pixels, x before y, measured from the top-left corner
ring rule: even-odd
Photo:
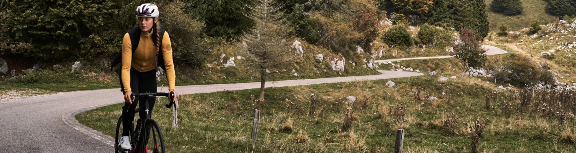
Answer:
[[[502,53],[502,49],[499,50]],[[506,53],[506,51],[503,51]],[[423,75],[380,71],[380,75],[267,82],[266,87],[370,81]],[[180,94],[259,88],[259,82],[177,86]],[[0,102],[0,152],[113,152],[112,137],[75,120],[74,115],[122,102],[119,89],[74,91]]]

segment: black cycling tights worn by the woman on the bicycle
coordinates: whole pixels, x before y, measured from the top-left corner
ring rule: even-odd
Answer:
[[[151,70],[147,72],[139,72],[131,68],[130,70],[130,87],[132,89],[132,93],[156,93],[157,84],[156,84],[156,70]],[[150,109],[150,116],[152,114],[152,109],[154,108],[154,103],[156,103],[156,98],[148,98],[148,107]],[[144,105],[144,101],[139,101],[138,97],[135,98],[132,104],[124,104],[125,108],[122,110],[122,136],[130,135],[130,127],[132,121],[134,121],[134,110],[136,110],[136,104],[139,106]],[[130,105],[130,106],[128,106]],[[146,113],[138,113],[140,118],[145,118]]]

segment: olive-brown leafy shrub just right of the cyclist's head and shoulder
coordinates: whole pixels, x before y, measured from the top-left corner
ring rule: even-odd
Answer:
[[[162,26],[170,35],[175,62],[201,66],[207,54],[200,39],[204,23],[184,13],[183,8],[186,5],[183,2],[163,2],[158,6],[162,8],[159,19],[164,21]]]

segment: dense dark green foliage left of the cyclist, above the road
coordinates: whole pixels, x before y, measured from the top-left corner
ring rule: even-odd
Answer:
[[[104,0],[2,2],[0,52],[36,58],[111,56],[124,34],[115,26],[122,21],[111,19],[123,5]]]

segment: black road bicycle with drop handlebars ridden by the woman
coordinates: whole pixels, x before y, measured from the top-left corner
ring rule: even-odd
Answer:
[[[149,107],[148,107],[148,98],[150,97],[157,97],[157,96],[164,96],[168,97],[168,93],[132,93],[131,97],[134,100],[134,97],[139,97],[139,100],[144,101],[143,106],[139,106],[134,111],[136,113],[146,113],[145,118],[138,118],[136,128],[134,128],[134,121],[132,121],[130,127],[130,144],[132,145],[131,150],[122,150],[120,148],[120,138],[122,137],[122,116],[118,118],[118,124],[116,125],[116,143],[115,143],[115,152],[116,153],[165,153],[164,148],[164,137],[162,137],[162,131],[160,130],[160,126],[156,123],[155,120],[151,119]],[[174,92],[170,92],[170,104],[166,104],[166,108],[171,108],[174,104]],[[134,102],[134,101],[132,101]],[[126,110],[127,108],[122,107],[122,110]],[[174,105],[174,109],[176,109],[176,105]],[[135,116],[135,115],[134,115]],[[145,127],[142,129],[142,127]],[[150,135],[151,133],[151,135]]]

